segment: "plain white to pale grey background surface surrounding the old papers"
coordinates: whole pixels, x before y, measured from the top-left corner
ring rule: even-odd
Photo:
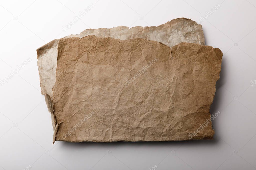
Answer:
[[[62,31],[91,4],[81,20]],[[213,121],[214,140],[52,145],[38,47],[89,28],[158,26],[180,17],[199,21],[218,4],[201,22],[206,45],[224,53],[211,107],[212,114],[221,112]],[[0,86],[0,169],[256,169],[255,0],[16,0],[0,1],[0,15],[0,80],[31,58]]]

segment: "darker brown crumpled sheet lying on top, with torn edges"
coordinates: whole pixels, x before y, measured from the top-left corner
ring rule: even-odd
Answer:
[[[54,141],[211,139],[221,60],[220,49],[193,43],[170,48],[141,38],[62,38]]]

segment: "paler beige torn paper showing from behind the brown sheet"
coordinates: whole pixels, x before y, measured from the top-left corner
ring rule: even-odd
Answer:
[[[81,32],[79,35],[70,35],[65,38],[82,38],[87,35],[111,37],[121,40],[144,38],[147,40],[159,41],[169,47],[181,42],[205,45],[202,26],[197,25],[195,21],[186,18],[174,19],[159,25],[158,27],[137,26],[129,29],[129,27],[119,26],[111,29],[88,29]],[[40,75],[41,93],[43,95],[49,95],[50,98],[52,98],[52,88],[56,80],[58,41],[59,39],[53,40],[37,49],[37,65]]]

